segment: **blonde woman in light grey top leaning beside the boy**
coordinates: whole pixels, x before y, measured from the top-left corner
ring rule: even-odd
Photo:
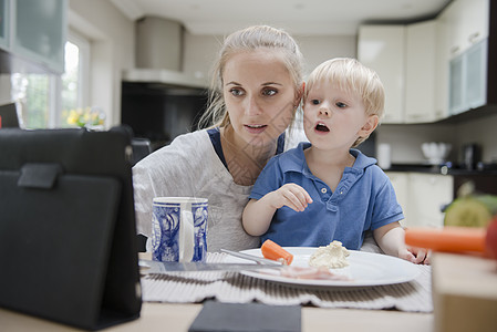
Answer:
[[[176,137],[133,168],[138,232],[151,236],[154,197],[195,196],[209,199],[208,251],[260,245],[242,229],[241,214],[269,158],[292,147],[283,133],[300,103],[302,62],[296,41],[271,27],[225,40],[200,122],[213,125]]]

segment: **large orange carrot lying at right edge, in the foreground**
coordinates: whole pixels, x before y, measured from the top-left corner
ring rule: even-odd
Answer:
[[[407,228],[405,243],[435,251],[485,252],[485,228],[475,227]]]

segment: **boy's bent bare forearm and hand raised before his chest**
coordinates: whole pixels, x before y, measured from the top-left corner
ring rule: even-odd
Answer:
[[[269,229],[277,209],[288,206],[296,211],[303,211],[310,203],[312,198],[306,189],[296,184],[286,184],[260,199],[250,199],[244,209],[241,224],[249,235],[260,236]]]

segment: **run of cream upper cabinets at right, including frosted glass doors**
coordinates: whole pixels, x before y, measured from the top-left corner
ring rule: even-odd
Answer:
[[[383,123],[432,123],[496,102],[489,0],[454,0],[434,20],[362,25],[358,59],[385,85]]]

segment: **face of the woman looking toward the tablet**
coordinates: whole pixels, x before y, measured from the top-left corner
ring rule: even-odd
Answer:
[[[282,54],[257,50],[234,54],[222,73],[226,108],[238,144],[275,144],[300,100]]]

